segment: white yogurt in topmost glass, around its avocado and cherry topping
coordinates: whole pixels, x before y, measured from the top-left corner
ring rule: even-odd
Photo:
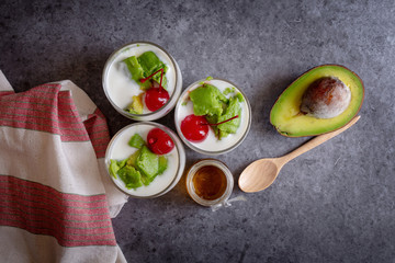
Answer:
[[[155,53],[167,67],[165,77],[167,78],[166,90],[169,93],[169,100],[157,111],[149,111],[144,105],[142,114],[133,114],[125,111],[125,108],[132,103],[132,98],[138,96],[143,93],[143,90],[132,79],[124,60],[132,56],[138,57],[146,52]],[[161,46],[149,42],[133,42],[116,49],[109,57],[102,75],[102,84],[108,100],[119,113],[135,121],[155,121],[165,116],[174,107],[182,90],[182,76],[174,58]]]

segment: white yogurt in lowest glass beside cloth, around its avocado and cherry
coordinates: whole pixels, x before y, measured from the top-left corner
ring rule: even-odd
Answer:
[[[157,175],[149,185],[127,188],[125,182],[123,182],[120,176],[114,178],[111,175],[109,171],[111,160],[124,160],[132,156],[137,151],[137,149],[128,145],[131,138],[135,134],[138,134],[145,141],[147,141],[147,135],[154,128],[160,128],[163,130],[170,136],[174,144],[174,148],[170,152],[166,153],[167,169],[165,172]],[[168,127],[153,122],[139,122],[122,128],[114,135],[105,152],[105,165],[108,168],[106,171],[109,176],[122,192],[136,198],[154,198],[168,193],[180,181],[185,168],[185,151],[176,133]]]

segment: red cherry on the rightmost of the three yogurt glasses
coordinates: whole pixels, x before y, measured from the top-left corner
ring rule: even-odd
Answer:
[[[204,116],[188,115],[181,122],[181,132],[189,141],[201,142],[208,136],[208,122]]]

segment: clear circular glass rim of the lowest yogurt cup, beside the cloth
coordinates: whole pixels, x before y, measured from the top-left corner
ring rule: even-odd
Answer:
[[[117,180],[117,179],[114,179],[111,174],[110,174],[110,171],[109,171],[109,162],[110,162],[110,151],[112,150],[112,148],[114,147],[114,141],[116,140],[117,136],[120,134],[122,134],[123,132],[125,132],[126,129],[133,127],[133,126],[138,126],[138,125],[151,125],[151,126],[155,126],[157,128],[160,128],[162,130],[165,130],[170,137],[171,139],[174,141],[174,146],[177,148],[177,158],[179,160],[179,165],[177,167],[177,171],[174,173],[174,178],[171,180],[171,182],[160,192],[156,193],[156,194],[153,194],[153,195],[146,195],[146,196],[140,196],[140,195],[134,195],[134,194],[131,194],[128,193],[127,191],[125,191],[126,187],[121,187],[120,185],[117,185],[115,183],[114,180]],[[177,184],[177,181],[180,180],[180,176],[179,176],[179,173],[180,173],[180,168],[184,164],[181,163],[181,153],[180,152],[184,152],[183,151],[183,146],[181,144],[180,140],[178,140],[178,138],[176,137],[176,133],[172,132],[170,128],[166,127],[165,125],[162,124],[158,124],[158,123],[154,123],[154,122],[136,122],[136,123],[132,123],[129,125],[126,125],[125,127],[123,127],[122,129],[120,129],[110,140],[109,142],[109,146],[105,150],[105,156],[104,156],[104,162],[105,162],[105,171],[106,171],[106,174],[110,176],[111,181],[113,182],[113,184],[124,194],[126,195],[129,195],[134,198],[155,198],[155,197],[158,197],[158,196],[161,196],[163,194],[166,194],[168,191],[170,191],[172,187],[176,186]],[[180,149],[181,148],[181,149]],[[182,171],[183,173],[183,171]],[[181,174],[182,175],[182,174]]]

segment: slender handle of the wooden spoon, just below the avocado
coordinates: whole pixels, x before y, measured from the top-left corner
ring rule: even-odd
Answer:
[[[324,134],[324,135],[319,135],[313,139],[311,139],[309,141],[307,141],[306,144],[304,144],[303,146],[301,146],[300,148],[295,149],[294,151],[287,153],[286,156],[282,157],[284,158],[284,163],[287,161],[291,161],[292,159],[294,159],[295,157],[298,157],[303,153],[305,153],[306,151],[319,146],[320,144],[324,144],[325,141],[327,141],[328,139],[334,138],[335,136],[341,134],[342,132],[345,132],[346,129],[348,129],[349,127],[351,127],[352,125],[354,125],[358,119],[360,119],[360,116],[354,117],[353,119],[351,119],[350,123],[348,123],[346,126],[343,126],[342,128],[339,128],[337,130],[334,130],[331,133],[328,134]]]

